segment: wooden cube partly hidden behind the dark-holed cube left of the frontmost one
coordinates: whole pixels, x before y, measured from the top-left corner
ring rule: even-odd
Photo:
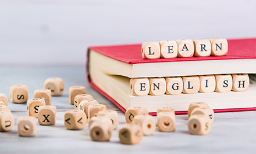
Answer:
[[[96,113],[95,116],[104,116],[106,118],[111,119],[111,126],[112,129],[116,129],[116,127],[118,127],[119,124],[119,120],[118,120],[118,112],[113,111],[113,110],[104,110],[104,111],[99,111],[98,113]]]

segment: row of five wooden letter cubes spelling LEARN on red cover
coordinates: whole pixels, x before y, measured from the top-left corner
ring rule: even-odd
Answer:
[[[225,56],[227,40],[221,39],[179,39],[177,41],[143,42],[141,53],[143,58],[175,58]]]

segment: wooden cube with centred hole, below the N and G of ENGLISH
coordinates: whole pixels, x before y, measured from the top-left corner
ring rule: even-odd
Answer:
[[[157,127],[159,131],[175,131],[175,114],[172,112],[158,113]]]

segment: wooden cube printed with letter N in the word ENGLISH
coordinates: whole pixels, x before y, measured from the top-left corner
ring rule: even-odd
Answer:
[[[160,96],[166,92],[165,78],[150,78],[150,94]]]

